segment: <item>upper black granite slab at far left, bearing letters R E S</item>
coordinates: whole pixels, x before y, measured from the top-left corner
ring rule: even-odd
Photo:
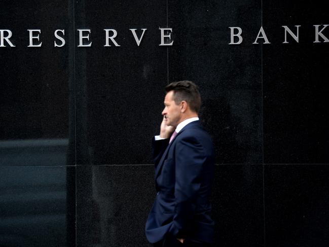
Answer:
[[[1,5],[0,28],[16,47],[0,51],[0,165],[65,165],[68,47],[54,48],[54,31],[69,27],[67,1]],[[27,47],[27,29],[41,30],[42,47]]]

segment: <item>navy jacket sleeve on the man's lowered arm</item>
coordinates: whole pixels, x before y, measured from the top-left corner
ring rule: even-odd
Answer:
[[[179,140],[175,150],[175,215],[170,232],[185,238],[196,210],[196,197],[201,186],[201,172],[206,161],[202,145],[195,137]]]

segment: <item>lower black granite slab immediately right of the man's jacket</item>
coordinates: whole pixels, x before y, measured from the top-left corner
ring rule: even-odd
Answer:
[[[264,246],[263,165],[218,165],[214,246]]]

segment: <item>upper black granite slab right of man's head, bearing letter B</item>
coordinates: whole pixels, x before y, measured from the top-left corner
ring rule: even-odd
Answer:
[[[241,26],[249,39],[261,24],[260,2],[168,1],[168,20],[175,30],[169,82],[199,85],[216,163],[262,163],[261,47],[228,45],[229,26]]]

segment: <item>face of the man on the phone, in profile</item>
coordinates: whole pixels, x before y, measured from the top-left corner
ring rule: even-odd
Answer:
[[[171,90],[166,94],[164,105],[165,108],[162,111],[162,116],[165,116],[167,126],[177,127],[181,112],[180,112],[180,104],[176,105],[173,100],[174,91]]]

